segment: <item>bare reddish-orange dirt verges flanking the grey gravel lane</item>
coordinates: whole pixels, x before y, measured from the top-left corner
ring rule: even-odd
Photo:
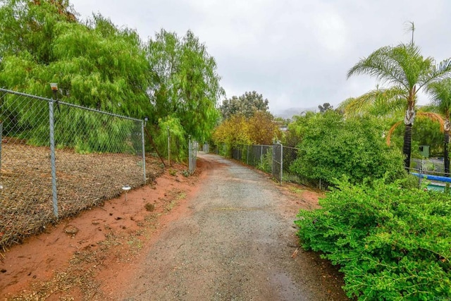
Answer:
[[[125,195],[111,199],[0,254],[1,299],[112,299],[165,226],[187,214],[186,199],[214,168],[197,162],[193,176],[183,176],[186,166],[175,164],[154,183],[128,192],[126,202]],[[287,214],[318,207],[321,193],[297,185],[282,189],[293,200]]]

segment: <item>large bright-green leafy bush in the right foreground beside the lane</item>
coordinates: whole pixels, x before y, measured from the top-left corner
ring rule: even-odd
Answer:
[[[377,180],[341,183],[320,204],[297,215],[299,239],[341,266],[349,297],[449,300],[449,195]]]

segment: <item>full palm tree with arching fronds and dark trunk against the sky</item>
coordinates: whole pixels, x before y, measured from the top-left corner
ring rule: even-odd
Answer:
[[[422,87],[445,78],[451,74],[451,60],[447,59],[435,65],[431,57],[424,59],[420,49],[413,42],[396,47],[386,46],[377,49],[368,57],[361,59],[347,73],[352,75],[368,74],[400,90],[397,97],[404,99],[404,166],[408,171],[412,150],[412,126],[415,118],[416,95]]]

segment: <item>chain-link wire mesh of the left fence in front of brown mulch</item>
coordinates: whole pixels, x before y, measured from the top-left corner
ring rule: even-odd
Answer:
[[[145,183],[143,121],[0,89],[0,125],[0,246]]]

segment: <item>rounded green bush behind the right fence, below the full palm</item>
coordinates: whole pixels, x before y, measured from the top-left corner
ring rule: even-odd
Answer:
[[[388,147],[384,125],[376,118],[347,118],[335,111],[306,118],[299,154],[291,171],[305,180],[333,183],[343,175],[365,179],[404,178],[403,156]]]

